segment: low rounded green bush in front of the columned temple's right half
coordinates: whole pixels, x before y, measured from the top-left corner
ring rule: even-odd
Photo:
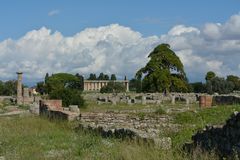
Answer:
[[[100,90],[101,93],[121,93],[126,92],[126,87],[119,82],[109,82],[106,86],[103,86]]]

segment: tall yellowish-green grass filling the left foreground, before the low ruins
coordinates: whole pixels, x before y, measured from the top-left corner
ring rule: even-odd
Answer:
[[[6,159],[173,159],[171,151],[74,131],[74,124],[39,117],[0,118],[0,156]]]

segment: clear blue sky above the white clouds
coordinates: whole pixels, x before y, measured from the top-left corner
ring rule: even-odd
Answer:
[[[65,36],[112,23],[144,36],[160,35],[177,24],[201,27],[224,22],[240,10],[239,0],[2,0],[0,40],[19,38],[46,26]],[[51,11],[58,11],[49,16]]]

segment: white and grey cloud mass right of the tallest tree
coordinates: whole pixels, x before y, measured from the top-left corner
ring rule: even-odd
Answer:
[[[178,25],[160,37],[171,44],[183,61],[190,80],[201,80],[215,71],[219,76],[239,75],[240,15],[225,23],[206,23],[203,28]]]

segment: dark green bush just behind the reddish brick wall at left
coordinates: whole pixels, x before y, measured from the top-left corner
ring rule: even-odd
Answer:
[[[78,105],[78,107],[84,106],[84,99],[82,98],[79,90],[69,88],[56,89],[50,92],[49,98],[62,99],[64,107],[68,107],[69,105]]]

